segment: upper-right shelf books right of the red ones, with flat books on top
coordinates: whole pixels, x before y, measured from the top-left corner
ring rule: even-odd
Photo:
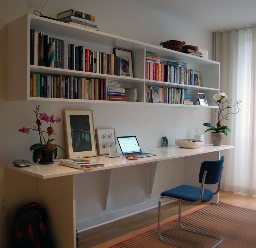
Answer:
[[[194,70],[187,69],[187,63],[181,61],[161,61],[164,65],[164,81],[168,83],[194,85]]]

